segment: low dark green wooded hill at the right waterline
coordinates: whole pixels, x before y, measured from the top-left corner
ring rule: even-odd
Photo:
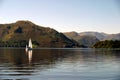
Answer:
[[[120,41],[105,40],[97,42],[93,48],[120,48]]]

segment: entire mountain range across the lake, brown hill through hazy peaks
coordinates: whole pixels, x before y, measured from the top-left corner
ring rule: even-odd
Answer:
[[[120,33],[107,34],[94,31],[60,33],[29,20],[0,24],[0,41],[26,41],[29,38],[32,38],[39,47],[91,47],[99,41],[120,40]]]

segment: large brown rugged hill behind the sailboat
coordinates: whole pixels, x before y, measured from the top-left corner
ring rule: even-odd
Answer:
[[[0,46],[25,46],[29,38],[37,47],[80,47],[77,42],[67,38],[64,34],[30,21],[0,24]]]

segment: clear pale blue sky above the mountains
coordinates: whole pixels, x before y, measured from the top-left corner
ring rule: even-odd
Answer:
[[[0,0],[0,24],[18,20],[59,32],[120,33],[120,0]]]

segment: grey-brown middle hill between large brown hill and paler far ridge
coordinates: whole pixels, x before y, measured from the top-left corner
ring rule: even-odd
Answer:
[[[87,33],[80,35],[77,32],[66,32],[64,33],[68,38],[76,40],[80,45],[91,47],[93,44],[99,41],[96,36],[87,35]]]

